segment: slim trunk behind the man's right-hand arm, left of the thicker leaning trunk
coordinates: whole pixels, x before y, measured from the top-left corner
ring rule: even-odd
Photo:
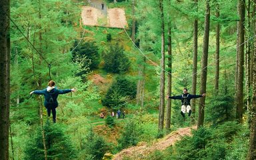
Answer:
[[[195,9],[198,11],[198,3],[195,0]],[[197,35],[198,35],[198,19],[194,20],[194,31],[193,31],[193,75],[192,75],[192,95],[197,92]],[[191,99],[191,110],[192,110],[192,122],[195,123],[195,99]]]

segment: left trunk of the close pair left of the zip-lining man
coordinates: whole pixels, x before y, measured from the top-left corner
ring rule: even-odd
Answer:
[[[160,77],[160,104],[159,104],[159,131],[163,131],[165,118],[165,22],[163,17],[163,0],[159,0],[161,13],[161,77]]]

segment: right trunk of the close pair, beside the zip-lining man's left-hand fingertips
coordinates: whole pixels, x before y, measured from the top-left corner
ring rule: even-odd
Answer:
[[[169,0],[169,7],[171,6],[171,1]],[[170,10],[171,11],[171,10]],[[168,12],[168,75],[167,75],[167,95],[171,95],[171,14]],[[165,128],[170,129],[171,127],[171,99],[167,100],[166,107],[166,122]]]

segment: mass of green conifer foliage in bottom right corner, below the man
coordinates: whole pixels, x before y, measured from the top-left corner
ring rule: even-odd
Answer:
[[[165,151],[166,159],[245,159],[249,130],[245,126],[226,122],[217,128],[200,127],[192,137],[183,137]]]

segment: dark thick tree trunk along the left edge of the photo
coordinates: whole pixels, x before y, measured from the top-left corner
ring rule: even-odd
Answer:
[[[9,160],[10,1],[0,1],[0,159]]]

